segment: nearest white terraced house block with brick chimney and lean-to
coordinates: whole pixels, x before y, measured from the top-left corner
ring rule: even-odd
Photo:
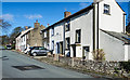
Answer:
[[[126,35],[126,13],[115,0],[94,2],[41,30],[49,31],[53,54],[93,59],[92,51],[103,49],[106,61],[130,59],[130,39]]]

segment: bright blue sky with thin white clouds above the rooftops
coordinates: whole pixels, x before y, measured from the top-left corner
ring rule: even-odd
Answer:
[[[36,19],[43,25],[52,25],[64,17],[64,12],[72,14],[90,5],[91,2],[2,2],[2,17],[12,24],[10,31],[18,26],[31,26]],[[128,2],[119,2],[128,13]]]

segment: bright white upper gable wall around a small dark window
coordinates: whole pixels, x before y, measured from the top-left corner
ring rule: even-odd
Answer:
[[[104,4],[109,4],[110,14],[104,14]],[[99,26],[101,29],[123,32],[123,11],[115,0],[103,0],[99,4]]]

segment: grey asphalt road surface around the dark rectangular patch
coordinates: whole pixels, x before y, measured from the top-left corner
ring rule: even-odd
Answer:
[[[92,78],[91,76],[48,65],[8,50],[2,51],[2,56],[3,78]],[[13,67],[27,65],[36,65],[41,67],[41,69],[21,70]]]

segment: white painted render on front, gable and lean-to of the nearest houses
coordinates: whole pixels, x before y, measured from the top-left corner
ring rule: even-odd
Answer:
[[[104,14],[104,4],[109,5],[110,14]],[[115,0],[103,0],[99,3],[99,18],[98,18],[98,4],[95,4],[95,48],[98,46],[98,29],[99,29],[99,49],[105,52],[106,61],[128,61],[130,59],[130,45],[123,45],[123,41],[114,38],[100,29],[123,32],[123,14],[125,12],[119,8]],[[125,16],[126,17],[126,16]],[[99,21],[99,28],[98,28]],[[54,51],[56,53],[56,43],[63,41],[64,24],[62,22],[54,26],[54,36],[52,36],[52,28],[50,28],[50,50],[52,50],[52,41],[54,41]],[[125,24],[126,25],[126,24]],[[81,30],[81,42],[76,42],[76,30]],[[70,57],[74,57],[72,44],[76,44],[76,57],[82,57],[83,46],[90,46],[87,59],[92,59],[93,51],[93,9],[82,14],[76,15],[70,18],[70,30],[65,32],[65,39],[70,38]],[[66,44],[65,44],[66,45]],[[65,54],[69,51],[65,50]],[[115,57],[118,56],[118,57]],[[128,57],[129,56],[129,57]]]

